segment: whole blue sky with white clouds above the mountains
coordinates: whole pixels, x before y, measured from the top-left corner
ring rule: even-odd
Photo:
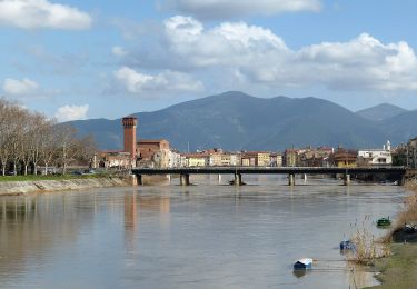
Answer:
[[[116,119],[225,91],[417,109],[415,0],[0,0],[0,96]]]

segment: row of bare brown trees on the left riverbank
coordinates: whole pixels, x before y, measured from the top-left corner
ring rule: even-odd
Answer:
[[[72,162],[87,165],[96,152],[92,137],[77,138],[75,128],[0,99],[1,175],[38,173],[42,166],[57,167],[67,173]]]

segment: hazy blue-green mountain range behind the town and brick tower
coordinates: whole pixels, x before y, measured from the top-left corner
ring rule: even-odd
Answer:
[[[167,139],[180,151],[284,150],[290,147],[379,148],[417,134],[417,110],[380,104],[353,112],[318,98],[255,98],[239,91],[138,112],[138,139]],[[122,148],[121,119],[67,122],[100,149]]]

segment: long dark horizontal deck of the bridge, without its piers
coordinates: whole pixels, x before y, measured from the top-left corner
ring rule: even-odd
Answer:
[[[311,168],[311,167],[191,167],[191,168],[136,168],[133,175],[332,175],[332,173],[399,173],[405,175],[405,167],[358,167],[358,168]]]

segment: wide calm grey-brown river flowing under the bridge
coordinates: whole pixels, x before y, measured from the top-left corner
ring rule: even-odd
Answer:
[[[191,177],[196,186],[0,198],[0,287],[19,288],[355,288],[338,243],[363,226],[395,217],[397,186],[244,176]],[[365,225],[363,225],[365,223]],[[302,257],[317,259],[304,276]]]

